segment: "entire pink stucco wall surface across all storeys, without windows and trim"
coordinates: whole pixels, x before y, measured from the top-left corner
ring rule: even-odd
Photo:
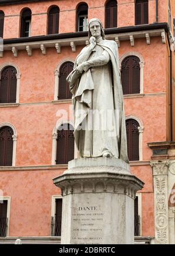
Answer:
[[[89,19],[100,18],[104,25],[104,0],[89,0]],[[159,0],[159,22],[167,22],[167,0]],[[76,7],[78,0],[47,1],[26,5],[2,6],[5,12],[4,38],[19,37],[20,16],[24,7],[33,13],[31,35],[47,34],[47,10],[51,5],[60,8],[60,33],[76,31]],[[70,7],[71,6],[71,7]],[[174,8],[175,9],[175,8]],[[135,25],[134,1],[118,0],[118,27]],[[175,11],[174,11],[175,15]],[[155,1],[149,1],[149,23],[155,22]],[[66,22],[65,22],[66,21]],[[169,108],[166,92],[169,88],[169,52],[161,37],[151,37],[150,45],[145,39],[135,39],[134,47],[128,41],[121,41],[119,55],[137,52],[143,57],[143,95],[125,98],[125,115],[138,117],[143,124],[143,161],[149,161],[152,151],[147,143],[165,141],[169,138]],[[51,165],[52,132],[58,121],[57,111],[69,110],[69,103],[53,104],[54,70],[65,58],[75,57],[82,49],[62,47],[61,54],[54,48],[47,49],[44,56],[40,49],[33,50],[33,56],[26,51],[14,57],[11,51],[0,59],[3,63],[15,63],[20,70],[19,107],[0,108],[0,123],[10,122],[17,131],[16,165]],[[155,94],[156,93],[156,94]],[[161,94],[159,94],[161,93]],[[67,118],[73,121],[73,117]],[[168,132],[167,132],[168,131]],[[142,190],[142,235],[154,234],[153,179],[149,165],[131,167],[132,173],[145,182]],[[0,170],[0,189],[4,196],[10,196],[10,236],[50,235],[51,196],[60,194],[53,185],[53,178],[63,170]]]

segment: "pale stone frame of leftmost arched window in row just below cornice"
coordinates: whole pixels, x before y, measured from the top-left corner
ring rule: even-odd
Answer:
[[[0,106],[5,106],[5,107],[8,107],[8,106],[10,107],[10,105],[19,105],[19,88],[20,88],[20,77],[21,77],[19,67],[15,63],[12,63],[12,62],[3,63],[0,66],[0,79],[1,79],[2,70],[8,66],[15,67],[16,72],[17,72],[16,73],[16,103],[0,103]]]

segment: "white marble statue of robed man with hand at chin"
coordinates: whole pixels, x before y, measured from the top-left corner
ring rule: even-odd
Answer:
[[[67,77],[79,157],[114,157],[128,162],[118,47],[105,39],[97,18],[89,21],[89,42]]]

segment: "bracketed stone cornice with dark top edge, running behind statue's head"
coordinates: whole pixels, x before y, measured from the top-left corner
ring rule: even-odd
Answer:
[[[106,29],[106,39],[115,40],[120,45],[120,41],[129,40],[131,46],[134,46],[134,40],[138,38],[145,38],[149,34],[151,37],[159,36],[162,43],[165,43],[167,23],[159,23],[153,25],[132,26],[124,28]],[[161,42],[160,41],[160,42]],[[14,56],[17,57],[19,50],[26,50],[29,56],[32,56],[33,49],[39,49],[45,55],[47,54],[47,48],[54,47],[55,52],[61,53],[61,47],[70,46],[72,52],[76,51],[76,46],[88,44],[88,32],[75,32],[75,33],[62,33],[58,35],[46,35],[46,36],[32,36],[21,37],[16,39],[4,39],[3,51],[12,51]],[[0,52],[0,57],[3,57],[3,52]]]

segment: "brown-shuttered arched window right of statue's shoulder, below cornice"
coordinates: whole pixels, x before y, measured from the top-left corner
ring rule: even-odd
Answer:
[[[123,94],[140,93],[140,60],[127,56],[121,63],[121,83]]]

